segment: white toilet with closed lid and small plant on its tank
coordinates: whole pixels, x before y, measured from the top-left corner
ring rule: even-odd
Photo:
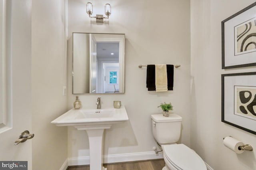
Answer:
[[[182,117],[174,113],[169,117],[151,115],[152,132],[163,150],[165,166],[162,170],[207,170],[202,158],[184,144],[176,144],[180,138]]]

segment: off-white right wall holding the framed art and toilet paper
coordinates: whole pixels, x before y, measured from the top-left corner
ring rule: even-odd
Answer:
[[[256,136],[221,122],[221,74],[256,71],[221,69],[221,21],[254,0],[191,0],[191,147],[214,170],[255,170]],[[251,144],[253,152],[236,154],[222,138]]]

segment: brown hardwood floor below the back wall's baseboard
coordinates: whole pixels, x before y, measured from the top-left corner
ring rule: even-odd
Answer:
[[[107,170],[162,170],[163,159],[104,164]],[[68,166],[66,170],[90,170],[89,165]]]

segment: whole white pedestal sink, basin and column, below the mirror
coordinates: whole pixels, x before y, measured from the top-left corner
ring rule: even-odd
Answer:
[[[51,123],[56,126],[73,126],[78,130],[86,130],[90,145],[90,169],[106,170],[102,166],[102,138],[104,129],[113,124],[128,121],[126,109],[106,107],[104,109],[81,108],[71,109]]]

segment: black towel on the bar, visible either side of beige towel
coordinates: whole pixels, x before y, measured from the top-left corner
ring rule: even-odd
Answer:
[[[166,65],[167,69],[167,86],[168,90],[173,90],[173,65]],[[146,84],[148,91],[156,91],[156,66],[148,65],[147,66],[147,79]]]

